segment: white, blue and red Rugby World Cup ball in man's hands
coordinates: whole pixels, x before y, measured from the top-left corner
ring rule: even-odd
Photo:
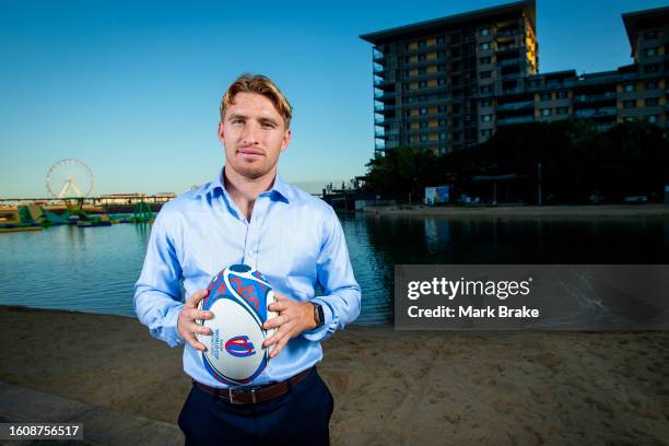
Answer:
[[[245,385],[262,373],[270,349],[262,347],[275,329],[262,324],[277,314],[268,309],[274,292],[265,275],[247,265],[233,265],[213,277],[209,295],[199,309],[212,312],[213,319],[198,320],[211,334],[196,333],[207,347],[201,352],[204,368],[228,386]]]

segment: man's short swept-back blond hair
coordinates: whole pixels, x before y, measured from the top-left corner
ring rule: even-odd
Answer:
[[[272,102],[272,104],[274,104],[274,108],[277,108],[277,111],[279,111],[279,115],[281,115],[283,118],[285,128],[287,129],[291,126],[293,107],[287,102],[283,93],[281,93],[281,90],[279,90],[277,84],[273,83],[271,79],[262,74],[250,73],[242,74],[225,91],[225,94],[221,99],[221,121],[223,121],[227,107],[235,103],[235,96],[237,93],[256,93],[267,97]]]

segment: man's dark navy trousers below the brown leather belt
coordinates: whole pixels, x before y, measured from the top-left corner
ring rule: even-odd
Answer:
[[[329,445],[334,400],[314,368],[287,394],[233,404],[192,386],[179,414],[186,446]]]

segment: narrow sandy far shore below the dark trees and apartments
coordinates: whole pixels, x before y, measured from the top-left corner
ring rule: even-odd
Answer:
[[[363,215],[430,215],[495,218],[635,218],[669,216],[669,204],[576,204],[497,207],[365,207]]]

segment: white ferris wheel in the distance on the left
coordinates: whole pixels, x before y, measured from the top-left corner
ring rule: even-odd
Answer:
[[[94,183],[89,166],[74,159],[57,161],[46,177],[47,189],[56,198],[87,197],[93,191]]]

